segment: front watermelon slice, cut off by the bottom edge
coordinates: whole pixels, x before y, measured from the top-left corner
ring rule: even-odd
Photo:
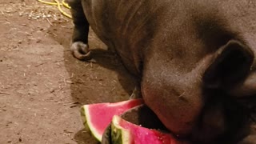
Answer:
[[[188,144],[178,141],[171,134],[135,125],[117,115],[114,115],[111,122],[111,142],[112,144]]]

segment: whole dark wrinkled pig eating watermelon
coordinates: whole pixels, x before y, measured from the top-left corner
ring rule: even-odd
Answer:
[[[141,78],[146,105],[172,133],[194,143],[256,143],[250,121],[256,94],[256,1],[69,4],[74,57],[91,58],[90,25]]]

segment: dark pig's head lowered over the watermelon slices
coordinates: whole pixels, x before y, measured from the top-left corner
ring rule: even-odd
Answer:
[[[176,27],[153,42],[145,53],[142,96],[179,137],[197,143],[236,141],[250,121],[244,102],[256,94],[254,51],[225,27],[212,26],[216,29],[202,34],[203,27],[182,27],[186,34]]]

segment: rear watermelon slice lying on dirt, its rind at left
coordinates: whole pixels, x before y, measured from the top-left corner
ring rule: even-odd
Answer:
[[[81,109],[82,122],[90,129],[94,137],[102,142],[102,134],[114,115],[120,115],[142,103],[142,99],[132,99],[124,102],[84,105]]]

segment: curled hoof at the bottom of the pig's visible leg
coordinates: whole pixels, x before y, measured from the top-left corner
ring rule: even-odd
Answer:
[[[70,50],[74,58],[78,58],[79,60],[82,60],[82,61],[87,61],[91,59],[89,46],[83,42],[72,43]]]

